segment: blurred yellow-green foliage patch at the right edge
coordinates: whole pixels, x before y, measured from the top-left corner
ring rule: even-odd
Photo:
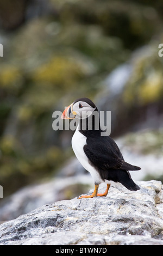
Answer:
[[[158,56],[157,46],[150,45],[144,50],[142,56],[136,59],[133,74],[124,90],[124,101],[128,104],[135,99],[139,105],[162,100],[163,59]]]

